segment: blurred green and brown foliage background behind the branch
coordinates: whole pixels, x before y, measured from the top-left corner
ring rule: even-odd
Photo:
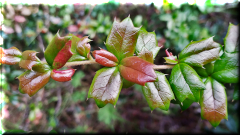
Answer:
[[[36,50],[37,56],[44,60],[43,50],[59,30],[61,36],[68,33],[78,37],[88,35],[92,40],[91,50],[106,49],[104,41],[114,18],[121,21],[130,15],[135,27],[155,31],[162,48],[154,63],[160,65],[165,62],[165,49],[177,55],[191,41],[211,36],[223,44],[229,23],[239,23],[238,1],[100,2],[1,3],[1,47]],[[94,99],[86,99],[100,65],[75,66],[77,70],[72,81],[61,83],[51,79],[31,98],[18,91],[16,77],[24,72],[23,69],[0,66],[0,133],[16,129],[29,133],[52,130],[60,133],[239,133],[238,84],[225,85],[229,118],[213,128],[207,120],[201,119],[197,103],[185,111],[171,103],[168,111],[155,109],[151,113],[139,85],[122,89],[116,108],[108,104],[99,109]],[[161,72],[170,74],[171,70]]]

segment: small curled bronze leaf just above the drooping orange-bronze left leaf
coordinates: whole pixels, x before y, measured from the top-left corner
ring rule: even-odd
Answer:
[[[32,67],[36,64],[41,63],[39,58],[36,56],[36,51],[27,50],[22,53],[22,59],[19,62],[21,68],[32,70]]]

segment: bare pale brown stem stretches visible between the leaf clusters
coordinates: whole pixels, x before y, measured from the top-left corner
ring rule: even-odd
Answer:
[[[78,65],[88,65],[88,64],[99,64],[94,59],[86,60],[86,61],[74,61],[74,62],[67,62],[64,67],[71,67],[71,66],[78,66]],[[154,65],[153,69],[172,69],[175,65]]]

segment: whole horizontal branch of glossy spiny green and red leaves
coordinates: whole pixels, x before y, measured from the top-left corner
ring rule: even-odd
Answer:
[[[198,102],[202,119],[216,127],[228,118],[224,83],[238,82],[238,35],[238,26],[230,24],[224,47],[214,42],[213,37],[193,41],[178,57],[166,50],[168,57],[164,59],[170,65],[154,65],[160,50],[155,32],[134,27],[127,17],[122,22],[114,20],[105,43],[107,50],[93,51],[95,59],[90,54],[88,37],[73,34],[60,37],[57,32],[44,52],[46,62],[39,60],[36,51],[21,52],[16,47],[0,48],[0,62],[19,64],[26,69],[18,76],[19,91],[29,96],[44,87],[50,78],[70,81],[75,70],[61,70],[63,66],[99,63],[105,67],[96,72],[88,92],[88,98],[93,98],[98,107],[108,103],[115,107],[121,89],[136,83],[142,85],[151,110],[168,110],[173,99],[182,110]],[[170,68],[169,82],[165,74],[155,71]]]

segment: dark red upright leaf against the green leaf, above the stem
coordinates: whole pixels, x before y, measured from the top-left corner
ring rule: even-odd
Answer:
[[[71,44],[72,41],[69,40],[66,45],[58,52],[53,61],[53,69],[59,69],[63,67],[66,62],[72,57],[73,53],[71,51]]]

